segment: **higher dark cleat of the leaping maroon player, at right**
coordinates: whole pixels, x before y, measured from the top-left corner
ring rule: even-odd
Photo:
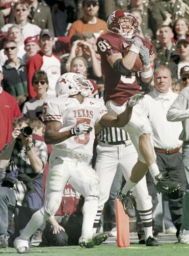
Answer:
[[[158,180],[157,184],[154,184],[158,193],[168,194],[180,188],[180,185],[171,180],[169,177],[163,177],[161,175],[160,178],[156,176],[155,179]]]

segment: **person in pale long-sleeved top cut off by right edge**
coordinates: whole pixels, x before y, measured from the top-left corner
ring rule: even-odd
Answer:
[[[179,139],[183,141],[182,144],[182,159],[184,165],[184,173],[186,177],[186,190],[183,198],[183,211],[182,211],[182,226],[179,233],[179,242],[181,244],[189,244],[189,218],[188,218],[188,206],[189,206],[189,113],[188,113],[188,104],[189,104],[189,87],[186,86],[177,99],[170,106],[167,119],[171,122],[182,121],[183,129],[179,136]]]

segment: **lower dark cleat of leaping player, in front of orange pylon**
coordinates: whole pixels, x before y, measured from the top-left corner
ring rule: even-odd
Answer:
[[[133,205],[135,197],[132,196],[132,191],[128,191],[127,195],[124,195],[121,193],[121,189],[120,189],[118,191],[117,196],[123,205],[125,213],[131,218],[135,217],[136,211],[135,211],[134,205]]]

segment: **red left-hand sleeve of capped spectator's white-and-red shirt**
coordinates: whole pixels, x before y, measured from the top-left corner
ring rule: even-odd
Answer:
[[[26,71],[28,76],[28,94],[30,98],[34,98],[36,93],[32,86],[32,77],[35,71],[40,70],[43,63],[43,58],[41,55],[34,56],[26,62]]]

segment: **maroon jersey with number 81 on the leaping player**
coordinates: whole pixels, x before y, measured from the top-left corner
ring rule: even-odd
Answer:
[[[140,39],[152,52],[151,43],[144,38],[140,37]],[[137,72],[131,71],[127,76],[120,75],[107,61],[107,57],[114,53],[121,53],[124,56],[124,52],[128,51],[130,45],[130,42],[116,33],[106,33],[97,39],[97,49],[101,56],[101,68],[104,74],[105,102],[113,100],[122,105],[132,95],[141,92]]]

